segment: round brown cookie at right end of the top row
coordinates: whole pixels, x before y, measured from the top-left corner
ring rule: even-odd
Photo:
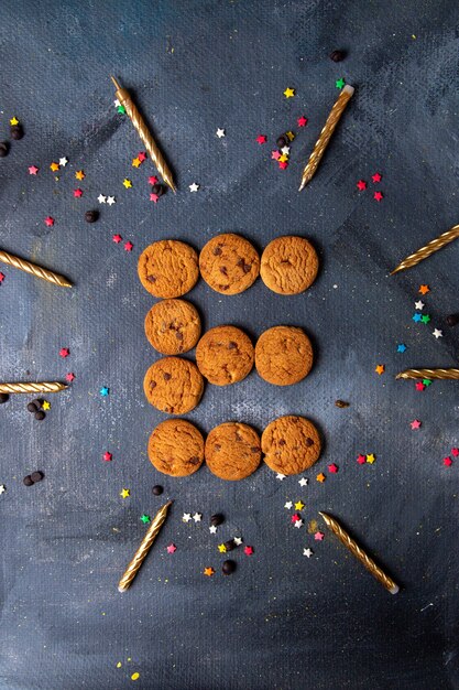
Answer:
[[[261,257],[262,281],[278,294],[298,294],[313,284],[319,258],[304,237],[287,235],[273,239]]]

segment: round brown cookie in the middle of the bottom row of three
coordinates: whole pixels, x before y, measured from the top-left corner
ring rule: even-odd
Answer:
[[[244,479],[260,464],[259,434],[248,424],[226,422],[211,430],[204,454],[210,472],[220,479]]]

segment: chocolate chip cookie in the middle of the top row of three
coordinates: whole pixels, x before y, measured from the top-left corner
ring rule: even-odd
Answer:
[[[256,280],[260,258],[255,248],[241,237],[227,233],[210,239],[199,255],[204,280],[222,294],[243,292]]]

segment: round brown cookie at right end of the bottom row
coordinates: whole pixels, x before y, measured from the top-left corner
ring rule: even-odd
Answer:
[[[299,474],[320,455],[320,436],[304,417],[278,417],[267,424],[261,436],[264,462],[274,472]]]

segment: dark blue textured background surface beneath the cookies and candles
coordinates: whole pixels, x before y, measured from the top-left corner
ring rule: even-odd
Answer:
[[[458,17],[452,0],[1,2],[0,138],[13,115],[26,134],[0,162],[0,247],[75,282],[59,290],[2,268],[1,378],[76,374],[70,390],[50,396],[41,424],[24,410],[30,398],[0,409],[2,689],[128,688],[134,671],[134,687],[152,689],[459,687],[458,464],[441,464],[459,443],[458,387],[436,382],[420,393],[394,380],[407,366],[457,363],[458,334],[444,319],[459,310],[458,246],[389,278],[404,256],[458,222]],[[328,58],[334,48],[349,52],[346,62]],[[147,200],[151,163],[131,168],[142,147],[113,108],[110,74],[135,95],[173,164],[178,193],[156,206]],[[298,194],[341,76],[356,96]],[[287,86],[296,88],[289,100]],[[270,144],[297,131],[303,114],[308,126],[288,170],[278,171]],[[269,136],[263,148],[259,133]],[[63,155],[69,164],[55,181],[48,165]],[[32,163],[37,177],[28,174]],[[371,182],[356,190],[376,170],[381,204]],[[190,194],[195,181],[201,186]],[[85,195],[74,200],[78,185]],[[118,203],[88,225],[84,212],[99,193]],[[48,214],[53,228],[43,223]],[[265,466],[236,484],[205,467],[173,479],[147,461],[147,436],[164,417],[142,392],[156,355],[143,334],[152,299],[136,258],[159,238],[200,249],[227,230],[260,249],[281,234],[308,236],[321,271],[293,298],[261,281],[225,298],[201,281],[189,298],[205,327],[234,323],[256,337],[274,324],[302,325],[317,362],[287,389],[255,373],[231,388],[208,386],[189,419],[204,431],[230,419],[261,431],[278,414],[306,414],[326,440],[317,472],[330,462],[340,468],[324,485],[315,470],[303,489],[298,477],[280,483]],[[113,233],[132,240],[131,255]],[[431,287],[428,326],[411,320],[422,282]],[[434,326],[444,328],[438,342]],[[398,342],[408,346],[404,355]],[[70,348],[66,360],[62,346]],[[336,398],[351,407],[337,409]],[[418,432],[408,425],[414,418],[423,420]],[[112,463],[102,462],[106,450]],[[359,466],[360,452],[374,452],[376,463]],[[45,481],[26,488],[22,477],[35,468]],[[118,580],[144,532],[139,517],[163,503],[151,495],[157,482],[175,505],[120,595]],[[315,543],[306,527],[292,529],[287,498],[304,499],[307,521],[319,509],[340,517],[402,592],[389,595],[328,533]],[[203,525],[184,525],[184,510],[200,510]],[[217,510],[227,522],[212,537],[207,522]],[[239,550],[237,573],[222,578],[216,545],[236,533],[255,554]],[[172,540],[177,551],[168,556]],[[212,579],[201,574],[210,564]]]

